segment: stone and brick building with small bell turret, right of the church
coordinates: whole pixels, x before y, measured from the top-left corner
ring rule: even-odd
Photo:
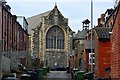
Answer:
[[[84,43],[85,43],[85,37],[86,33],[89,31],[89,23],[90,21],[88,19],[84,20],[83,22],[83,30],[78,31],[74,38],[74,49],[75,49],[75,54],[74,54],[74,61],[75,61],[75,67],[79,68],[82,71],[88,71],[87,67],[89,64],[88,57],[89,54],[84,52]],[[87,60],[86,60],[87,59]]]

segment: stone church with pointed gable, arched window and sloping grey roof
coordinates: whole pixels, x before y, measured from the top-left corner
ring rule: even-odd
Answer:
[[[27,20],[33,38],[33,54],[44,63],[44,66],[68,67],[73,32],[68,26],[68,18],[65,18],[55,5],[51,11]]]

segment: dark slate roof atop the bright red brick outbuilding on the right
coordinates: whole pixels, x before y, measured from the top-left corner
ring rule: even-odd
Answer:
[[[110,32],[111,28],[107,27],[96,27],[95,31],[99,39],[110,39]]]

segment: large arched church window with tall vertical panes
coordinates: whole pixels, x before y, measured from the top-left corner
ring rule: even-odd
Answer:
[[[50,28],[46,34],[47,49],[64,49],[64,32],[58,26]]]

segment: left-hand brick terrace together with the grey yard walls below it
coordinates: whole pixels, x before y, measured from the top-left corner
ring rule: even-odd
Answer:
[[[1,72],[10,72],[18,68],[18,63],[28,55],[28,23],[25,18],[22,26],[17,21],[17,16],[11,14],[11,7],[6,4],[5,0],[0,1],[0,70]]]

